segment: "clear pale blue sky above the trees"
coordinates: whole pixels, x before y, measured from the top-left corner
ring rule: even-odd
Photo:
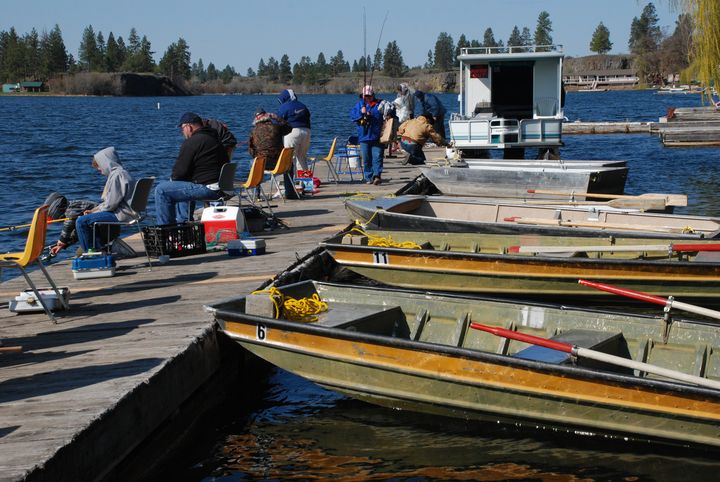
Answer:
[[[83,30],[110,32],[127,40],[132,27],[146,35],[159,61],[182,37],[191,62],[230,65],[240,74],[257,70],[283,54],[292,64],[323,52],[327,60],[342,50],[345,60],[373,55],[396,41],[409,66],[422,65],[440,32],[457,42],[461,34],[482,41],[485,29],[507,43],[513,26],[535,31],[541,11],[550,14],[555,44],[568,56],[589,55],[590,39],[600,22],[609,29],[611,54],[627,53],[630,24],[647,1],[637,0],[24,0],[3,2],[0,30],[15,27],[22,35],[60,26],[68,52],[77,59]],[[672,0],[653,2],[659,24],[671,34],[679,11]],[[363,36],[363,10],[366,34]],[[383,28],[383,19],[387,21]],[[381,32],[382,29],[382,32]]]

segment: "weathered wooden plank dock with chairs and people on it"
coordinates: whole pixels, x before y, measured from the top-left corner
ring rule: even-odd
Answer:
[[[119,261],[112,278],[86,280],[73,279],[70,261],[50,266],[71,291],[58,324],[0,303],[0,340],[22,347],[0,354],[0,481],[112,478],[219,369],[219,336],[204,303],[253,291],[346,226],[344,197],[395,192],[417,174],[386,159],[381,186],[327,183],[301,201],[275,200],[288,228],[257,235],[267,243],[263,256],[210,252],[155,260],[152,271],[141,256]],[[142,251],[137,236],[126,240]],[[3,283],[0,300],[25,288],[22,277]]]

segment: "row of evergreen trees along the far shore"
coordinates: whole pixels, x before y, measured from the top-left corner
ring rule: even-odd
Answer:
[[[461,34],[457,43],[447,32],[441,32],[434,49],[428,50],[427,60],[422,66],[429,71],[449,71],[457,67],[458,55],[462,49],[472,47],[490,47],[496,52],[523,51],[529,46],[538,50],[549,48],[553,43],[550,14],[540,12],[535,31],[528,27],[513,27],[506,42],[496,40],[492,28],[487,28],[482,41],[468,40]],[[656,82],[664,73],[679,72],[688,65],[693,23],[690,15],[682,14],[677,20],[675,32],[664,36],[658,26],[655,6],[649,3],[641,16],[632,20],[628,47],[636,57],[636,68],[642,79]],[[605,54],[612,49],[610,32],[600,22],[592,34],[590,50]],[[179,38],[170,44],[159,63],[153,60],[154,51],[145,35],[140,37],[135,28],[130,30],[127,42],[123,37],[115,37],[113,32],[107,36],[94,31],[88,25],[82,34],[78,58],[67,52],[60,27],[50,32],[38,34],[35,29],[20,36],[14,27],[9,31],[0,31],[0,80],[14,82],[18,80],[47,80],[63,73],[75,72],[150,72],[167,75],[174,81],[206,83],[222,81],[229,83],[237,72],[230,65],[219,70],[213,63],[205,67],[203,60],[191,64],[190,46]],[[360,57],[352,65],[342,50],[326,59],[320,52],[313,62],[309,56],[303,56],[299,62],[291,64],[287,54],[280,60],[270,57],[260,59],[257,71],[247,70],[247,77],[262,77],[271,81],[317,85],[330,78],[347,72],[382,72],[389,77],[402,77],[410,68],[405,64],[402,51],[396,41],[388,42],[384,50],[378,48],[371,57]]]

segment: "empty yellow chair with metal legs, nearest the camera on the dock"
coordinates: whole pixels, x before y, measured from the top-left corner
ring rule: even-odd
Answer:
[[[47,206],[41,206],[35,210],[32,223],[30,224],[30,232],[28,233],[28,239],[25,242],[25,249],[20,253],[0,254],[0,268],[20,269],[28,285],[33,290],[35,297],[42,305],[45,313],[48,315],[48,318],[50,318],[53,323],[57,323],[55,316],[53,315],[52,311],[50,311],[47,304],[45,304],[45,300],[42,298],[42,296],[40,296],[40,293],[38,292],[35,283],[33,283],[33,281],[30,279],[30,276],[25,269],[32,263],[37,263],[37,265],[40,267],[40,271],[43,272],[45,278],[48,280],[48,283],[50,283],[50,286],[52,286],[52,289],[55,291],[55,295],[58,297],[58,300],[62,304],[63,308],[65,308],[66,310],[70,309],[67,301],[62,296],[62,293],[60,293],[60,290],[58,290],[57,285],[50,277],[50,274],[45,269],[45,266],[43,266],[42,262],[40,261],[40,254],[45,247],[45,235],[47,234],[47,209]]]

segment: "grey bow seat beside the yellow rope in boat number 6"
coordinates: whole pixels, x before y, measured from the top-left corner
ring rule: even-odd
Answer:
[[[356,303],[330,303],[328,310],[318,315],[314,325],[340,328],[349,331],[392,335],[396,322],[407,325],[405,315],[399,306],[379,307]],[[401,330],[407,331],[407,330]]]

